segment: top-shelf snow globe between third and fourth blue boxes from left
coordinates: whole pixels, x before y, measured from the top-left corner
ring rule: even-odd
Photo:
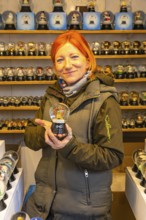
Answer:
[[[101,13],[101,30],[112,30],[114,22],[114,14],[111,11]]]

